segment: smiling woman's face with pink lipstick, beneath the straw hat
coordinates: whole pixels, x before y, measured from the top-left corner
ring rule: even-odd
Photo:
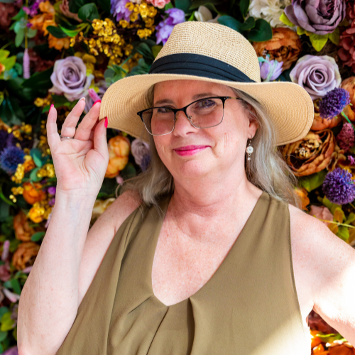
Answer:
[[[197,94],[200,97],[196,98]],[[214,96],[236,97],[236,94],[230,87],[212,82],[158,82],[154,87],[154,107],[180,109],[197,99]],[[227,99],[222,123],[208,129],[192,126],[183,111],[178,111],[176,119],[172,133],[154,136],[160,159],[175,183],[183,178],[204,178],[207,175],[221,179],[226,173],[244,170],[246,142],[254,136],[258,124],[249,119],[240,100]]]

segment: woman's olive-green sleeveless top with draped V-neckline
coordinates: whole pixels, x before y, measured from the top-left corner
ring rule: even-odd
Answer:
[[[311,354],[288,205],[263,192],[212,278],[167,306],[153,294],[151,271],[169,201],[160,212],[138,207],[121,225],[57,355]]]

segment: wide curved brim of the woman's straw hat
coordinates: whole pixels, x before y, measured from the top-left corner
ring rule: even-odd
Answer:
[[[293,82],[232,82],[184,74],[143,74],[124,77],[111,84],[102,98],[99,119],[108,127],[149,141],[149,134],[137,112],[148,109],[148,89],[167,80],[200,80],[234,87],[260,102],[273,120],[275,146],[302,139],[312,126],[314,106],[303,87]]]

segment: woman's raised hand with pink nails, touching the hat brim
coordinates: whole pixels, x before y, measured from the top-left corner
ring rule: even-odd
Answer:
[[[47,120],[47,137],[57,176],[57,192],[97,197],[109,163],[107,119],[99,121],[100,102],[94,104],[77,126],[85,107],[82,98],[62,124],[60,138],[57,110],[52,106]]]

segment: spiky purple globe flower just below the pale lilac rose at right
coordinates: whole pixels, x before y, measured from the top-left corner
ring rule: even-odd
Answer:
[[[335,88],[327,92],[320,100],[320,116],[322,119],[332,119],[350,104],[350,95],[346,89]]]

